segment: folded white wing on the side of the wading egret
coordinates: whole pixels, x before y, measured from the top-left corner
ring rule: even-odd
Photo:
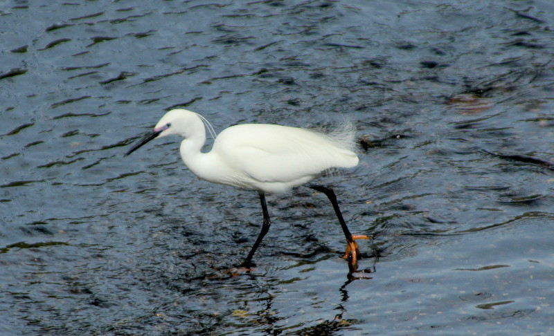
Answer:
[[[354,167],[358,158],[314,131],[271,124],[225,129],[215,151],[235,173],[259,182],[289,182],[319,176],[334,167]]]

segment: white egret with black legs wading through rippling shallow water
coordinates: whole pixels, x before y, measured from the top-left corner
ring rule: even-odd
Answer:
[[[206,142],[206,128],[215,140],[211,151],[203,153],[201,149]],[[253,255],[269,231],[271,221],[265,194],[289,192],[333,169],[352,168],[359,162],[354,151],[355,131],[349,124],[330,133],[277,124],[238,124],[215,136],[206,118],[185,109],[168,111],[125,156],[150,140],[171,135],[184,138],[180,147],[181,158],[198,178],[258,192],[263,215],[262,230],[247,258],[238,265],[240,268],[255,266]],[[350,233],[331,187],[307,187],[329,198],[346,237],[343,259],[349,261],[350,267],[356,265],[359,256],[356,239],[370,239],[370,236]]]

